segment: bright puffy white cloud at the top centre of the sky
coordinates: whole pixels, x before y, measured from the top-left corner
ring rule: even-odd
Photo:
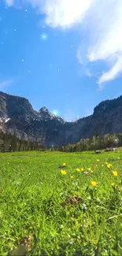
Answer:
[[[26,0],[41,13],[46,13],[46,24],[67,28],[82,22],[87,10],[96,0]]]

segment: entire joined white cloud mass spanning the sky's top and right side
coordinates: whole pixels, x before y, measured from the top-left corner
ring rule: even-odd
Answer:
[[[114,80],[122,73],[122,0],[25,0],[45,13],[52,28],[79,26],[81,42],[77,58],[81,65],[105,62],[98,84]],[[6,0],[8,6],[17,0]],[[85,35],[85,39],[82,39]],[[106,68],[106,64],[108,69]],[[89,69],[89,67],[88,67]],[[94,70],[95,72],[95,70]]]

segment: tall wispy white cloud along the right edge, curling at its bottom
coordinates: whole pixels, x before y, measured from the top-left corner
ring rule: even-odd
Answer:
[[[114,80],[122,72],[122,1],[103,0],[102,12],[96,14],[95,36],[93,43],[89,46],[87,58],[90,62],[105,61],[107,63],[109,70],[103,72],[98,79],[99,87],[102,88],[102,83]]]

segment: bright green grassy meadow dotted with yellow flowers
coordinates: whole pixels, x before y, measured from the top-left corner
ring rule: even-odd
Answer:
[[[121,152],[20,152],[0,163],[0,255],[122,255]]]

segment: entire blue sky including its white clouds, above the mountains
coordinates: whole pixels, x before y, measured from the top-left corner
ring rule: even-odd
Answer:
[[[121,0],[2,0],[0,91],[67,121],[91,114],[122,95],[121,28]]]

